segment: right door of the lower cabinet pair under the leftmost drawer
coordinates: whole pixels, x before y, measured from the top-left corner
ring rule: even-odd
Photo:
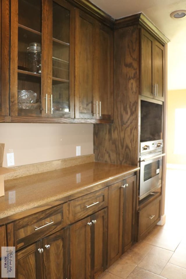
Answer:
[[[44,279],[69,278],[69,228],[43,239]]]

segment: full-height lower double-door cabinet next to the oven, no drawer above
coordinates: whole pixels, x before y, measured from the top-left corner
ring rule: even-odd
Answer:
[[[109,186],[108,266],[133,243],[135,234],[136,176]]]

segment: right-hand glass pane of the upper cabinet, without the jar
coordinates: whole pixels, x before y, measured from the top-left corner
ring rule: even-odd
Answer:
[[[70,11],[53,1],[52,110],[55,117],[70,117],[70,110],[74,110],[69,95],[69,31]]]

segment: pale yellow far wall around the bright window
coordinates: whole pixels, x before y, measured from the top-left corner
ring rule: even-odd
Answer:
[[[186,89],[169,90],[167,99],[167,164],[186,164],[185,154],[174,154],[175,109],[186,108]],[[185,125],[186,119],[183,119]]]

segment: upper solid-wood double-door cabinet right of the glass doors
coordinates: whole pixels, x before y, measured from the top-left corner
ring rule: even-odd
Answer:
[[[76,9],[75,117],[113,119],[113,31]]]

